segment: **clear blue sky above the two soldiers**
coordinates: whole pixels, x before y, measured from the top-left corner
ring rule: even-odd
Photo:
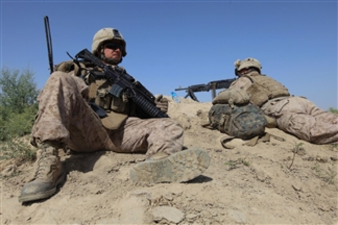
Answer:
[[[234,61],[255,57],[291,94],[337,108],[337,1],[1,0],[1,67],[29,66],[40,89],[49,76],[46,15],[54,64],[114,27],[127,42],[121,66],[154,94],[234,78]],[[211,101],[211,92],[196,96]]]

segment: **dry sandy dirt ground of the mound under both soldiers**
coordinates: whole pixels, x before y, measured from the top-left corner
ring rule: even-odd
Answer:
[[[21,204],[33,164],[2,161],[0,223],[337,223],[336,146],[266,128],[277,138],[254,147],[234,139],[235,148],[225,149],[222,133],[201,127],[211,103],[181,100],[169,102],[168,114],[184,127],[186,147],[208,151],[211,164],[203,175],[186,183],[134,184],[129,170],[144,160],[142,154],[61,152],[66,182],[51,198]]]

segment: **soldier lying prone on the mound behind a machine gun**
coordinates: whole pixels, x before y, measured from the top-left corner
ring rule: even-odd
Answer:
[[[284,85],[261,74],[261,64],[255,58],[238,59],[235,67],[239,78],[213,99],[214,106],[250,102],[263,111],[269,127],[276,126],[314,144],[338,142],[337,115],[304,97],[290,96]]]

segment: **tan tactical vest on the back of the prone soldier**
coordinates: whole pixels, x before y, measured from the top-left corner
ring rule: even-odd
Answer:
[[[244,75],[251,80],[252,84],[247,89],[250,94],[250,102],[262,106],[269,99],[290,96],[288,89],[276,80],[262,74]]]

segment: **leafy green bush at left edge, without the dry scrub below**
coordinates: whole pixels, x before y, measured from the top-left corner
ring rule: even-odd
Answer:
[[[33,80],[34,74],[25,69],[1,69],[0,77],[0,141],[28,134],[38,111],[39,90]]]

